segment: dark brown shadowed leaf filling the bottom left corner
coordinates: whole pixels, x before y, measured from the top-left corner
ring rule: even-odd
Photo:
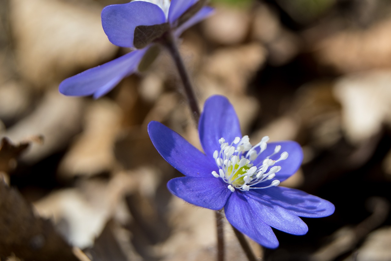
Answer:
[[[19,192],[0,181],[0,256],[29,260],[78,260],[48,220],[34,215]]]

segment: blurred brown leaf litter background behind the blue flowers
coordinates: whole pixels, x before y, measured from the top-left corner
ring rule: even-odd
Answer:
[[[98,100],[59,83],[129,51],[100,11],[120,0],[0,2],[1,260],[215,260],[215,216],[172,196],[181,176],[155,151],[161,121],[200,148],[172,60]],[[335,204],[276,231],[262,260],[391,260],[391,2],[215,0],[180,51],[200,103],[227,96],[257,143],[296,140],[302,168],[282,185]],[[179,93],[178,93],[179,91]],[[227,260],[246,260],[226,224]]]

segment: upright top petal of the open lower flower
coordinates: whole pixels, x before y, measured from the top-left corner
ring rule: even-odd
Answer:
[[[205,101],[198,131],[204,152],[211,158],[215,150],[220,151],[220,138],[224,138],[228,143],[235,137],[242,138],[238,116],[233,106],[227,98],[219,95]]]

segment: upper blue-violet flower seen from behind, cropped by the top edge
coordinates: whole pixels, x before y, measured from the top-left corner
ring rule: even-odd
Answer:
[[[178,38],[185,29],[213,11],[206,0],[135,0],[102,10],[102,27],[109,41],[133,51],[72,76],[59,86],[62,94],[94,98],[109,92],[124,77],[142,71],[158,54],[157,43]],[[144,59],[143,59],[144,58]]]

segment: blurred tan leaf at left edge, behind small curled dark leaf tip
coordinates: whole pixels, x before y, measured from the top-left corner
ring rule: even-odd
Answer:
[[[65,97],[57,90],[48,91],[31,114],[0,135],[13,141],[23,141],[26,137],[35,135],[43,136],[45,142],[33,143],[22,157],[27,163],[36,163],[63,149],[80,131],[83,105],[83,99]]]

